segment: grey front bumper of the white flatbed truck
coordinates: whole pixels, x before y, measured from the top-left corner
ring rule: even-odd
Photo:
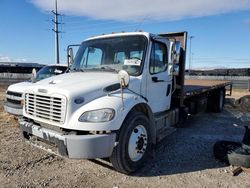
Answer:
[[[35,136],[57,148],[57,154],[74,159],[109,157],[115,146],[116,134],[65,135],[19,119],[20,129],[26,139]]]

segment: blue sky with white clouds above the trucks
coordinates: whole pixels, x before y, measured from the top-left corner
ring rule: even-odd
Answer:
[[[250,0],[152,2],[58,0],[64,23],[59,27],[63,31],[61,62],[66,62],[67,45],[90,36],[138,29],[152,33],[185,30],[194,36],[192,68],[250,67]],[[0,1],[0,62],[55,62],[53,6],[53,0]]]

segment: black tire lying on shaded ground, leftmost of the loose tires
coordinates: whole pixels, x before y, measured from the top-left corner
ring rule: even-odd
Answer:
[[[229,164],[228,154],[240,148],[241,143],[231,141],[218,141],[214,144],[214,157],[223,163]]]

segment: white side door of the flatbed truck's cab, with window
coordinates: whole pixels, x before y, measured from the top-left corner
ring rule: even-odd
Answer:
[[[168,75],[166,41],[153,41],[147,76],[147,99],[153,113],[170,108],[172,77]]]

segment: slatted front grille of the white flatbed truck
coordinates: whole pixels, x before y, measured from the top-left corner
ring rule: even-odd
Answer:
[[[66,99],[63,96],[48,96],[26,93],[25,112],[41,120],[63,124],[66,113]]]

